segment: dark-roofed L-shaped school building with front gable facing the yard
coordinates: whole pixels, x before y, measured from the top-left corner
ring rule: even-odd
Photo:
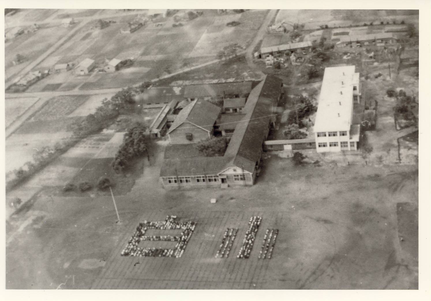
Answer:
[[[165,188],[253,185],[260,171],[263,143],[268,137],[270,127],[275,123],[275,116],[271,114],[272,108],[278,105],[281,94],[281,80],[266,75],[263,81],[250,91],[244,106],[245,114],[225,115],[242,117],[236,123],[225,154],[204,157],[192,151],[191,143],[178,145],[178,149],[184,148],[182,152],[177,149],[176,157],[165,156],[160,170],[162,185]],[[205,111],[201,113],[200,118],[203,120],[214,116]],[[174,123],[176,122],[177,120]],[[210,124],[210,121],[206,124]]]

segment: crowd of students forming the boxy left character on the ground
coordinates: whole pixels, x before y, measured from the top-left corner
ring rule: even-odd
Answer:
[[[157,222],[144,222],[139,223],[136,227],[136,231],[133,236],[129,239],[127,246],[121,251],[122,256],[140,256],[140,257],[175,257],[180,258],[184,253],[184,249],[187,246],[196,223],[189,221],[187,223],[175,222],[175,215],[168,215],[165,221]],[[158,229],[158,230],[173,230],[182,229],[181,236],[170,236],[170,235],[153,235],[145,236],[147,229]],[[141,248],[138,247],[142,240],[149,241],[176,241],[174,249],[163,249],[163,248]]]

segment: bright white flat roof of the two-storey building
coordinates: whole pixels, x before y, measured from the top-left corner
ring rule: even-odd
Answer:
[[[355,66],[325,68],[314,132],[350,130]]]

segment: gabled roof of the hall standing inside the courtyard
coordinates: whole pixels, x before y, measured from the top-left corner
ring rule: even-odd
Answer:
[[[168,133],[171,133],[184,122],[189,122],[210,131],[219,117],[220,111],[220,107],[206,100],[195,100],[178,113]]]

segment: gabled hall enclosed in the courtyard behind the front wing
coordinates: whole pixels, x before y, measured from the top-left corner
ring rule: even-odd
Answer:
[[[168,131],[169,143],[195,143],[212,137],[221,108],[206,100],[194,100],[182,109]]]

